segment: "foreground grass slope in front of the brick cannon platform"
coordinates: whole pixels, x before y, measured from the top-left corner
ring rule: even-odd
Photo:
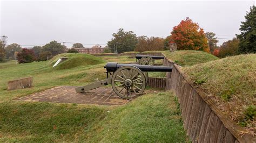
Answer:
[[[124,106],[44,102],[0,104],[0,142],[185,142],[171,92]]]

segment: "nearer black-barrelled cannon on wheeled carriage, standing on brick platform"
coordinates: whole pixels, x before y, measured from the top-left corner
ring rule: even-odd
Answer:
[[[146,66],[138,64],[124,64],[116,62],[108,62],[106,66],[107,78],[102,81],[77,87],[77,92],[89,91],[104,85],[111,84],[113,91],[121,98],[130,99],[136,95],[142,95],[146,88],[145,72],[161,71],[171,72],[172,67],[166,66]],[[143,73],[144,72],[144,73]]]

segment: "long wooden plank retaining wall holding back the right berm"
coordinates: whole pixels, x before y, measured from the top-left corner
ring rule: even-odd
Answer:
[[[255,142],[252,135],[241,134],[243,128],[228,120],[203,91],[186,81],[178,65],[165,59],[164,66],[173,66],[165,90],[177,95],[184,129],[193,142]]]

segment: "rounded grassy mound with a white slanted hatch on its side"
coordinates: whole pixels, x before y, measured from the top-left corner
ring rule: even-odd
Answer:
[[[63,62],[60,62],[55,69],[70,69],[75,68],[78,66],[87,66],[87,65],[97,65],[99,63],[104,63],[104,61],[96,56],[89,55],[89,54],[80,54],[80,53],[65,53],[65,54],[58,54],[54,56],[49,64],[51,66],[61,57],[69,58]]]

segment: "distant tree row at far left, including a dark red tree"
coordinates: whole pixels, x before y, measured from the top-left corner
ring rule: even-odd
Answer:
[[[66,46],[61,45],[57,41],[50,41],[44,46],[34,46],[31,49],[22,48],[21,45],[16,43],[6,45],[6,41],[5,36],[0,40],[0,62],[14,59],[18,60],[19,63],[46,61],[67,50]],[[84,48],[84,46],[79,43],[73,44],[72,48],[68,50],[68,53],[77,53],[74,48]]]

